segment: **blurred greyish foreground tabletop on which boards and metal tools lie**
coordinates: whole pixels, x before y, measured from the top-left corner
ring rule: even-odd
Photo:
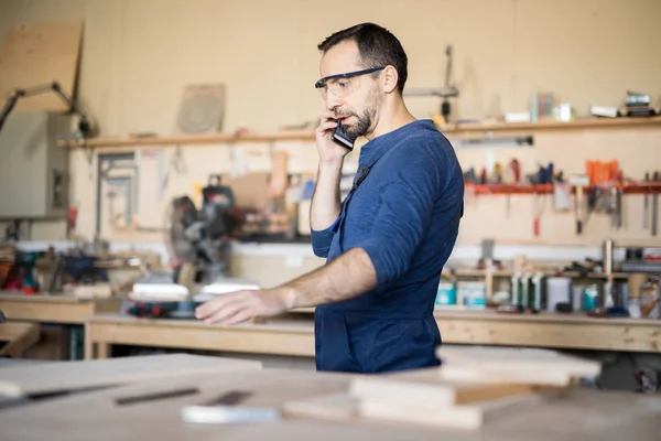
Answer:
[[[98,363],[98,362],[85,362]],[[32,369],[37,368],[36,366]],[[34,374],[34,372],[32,373]],[[2,368],[0,368],[0,378]],[[544,398],[517,408],[478,430],[431,429],[393,422],[330,421],[286,417],[252,424],[191,424],[182,407],[217,398],[229,390],[249,390],[246,406],[280,407],[290,400],[346,391],[354,376],[251,368],[197,374],[167,381],[142,383],[0,407],[3,440],[659,440],[661,396],[572,389],[564,398]],[[193,396],[117,406],[115,399],[181,387]]]

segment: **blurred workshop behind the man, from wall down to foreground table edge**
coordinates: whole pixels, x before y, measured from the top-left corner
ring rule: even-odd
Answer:
[[[313,368],[314,309],[237,329],[193,311],[324,263],[316,46],[372,21],[466,176],[444,344],[587,352],[600,387],[658,390],[660,17],[659,0],[0,0],[0,105],[17,99],[0,118],[0,322],[28,322],[0,329],[0,355]]]

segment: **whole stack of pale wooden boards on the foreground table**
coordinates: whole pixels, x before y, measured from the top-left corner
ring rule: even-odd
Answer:
[[[503,412],[560,396],[576,375],[600,370],[599,363],[543,349],[440,347],[437,354],[444,362],[438,368],[355,378],[350,392],[359,398],[359,415],[477,429]]]

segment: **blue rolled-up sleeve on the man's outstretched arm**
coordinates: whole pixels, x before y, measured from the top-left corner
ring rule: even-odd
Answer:
[[[356,246],[370,257],[377,283],[389,283],[410,266],[432,219],[438,194],[434,163],[408,164],[381,187],[381,204],[369,235]]]

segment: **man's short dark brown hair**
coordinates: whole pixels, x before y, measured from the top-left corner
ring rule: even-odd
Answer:
[[[317,49],[325,53],[344,41],[356,42],[360,62],[365,65],[365,68],[393,66],[399,77],[397,88],[400,94],[404,90],[404,84],[409,75],[407,66],[409,60],[402,44],[390,31],[375,23],[360,23],[335,32],[319,43]]]

